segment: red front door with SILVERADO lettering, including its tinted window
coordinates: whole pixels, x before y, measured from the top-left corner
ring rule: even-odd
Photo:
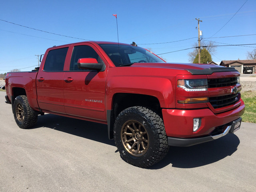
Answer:
[[[72,46],[69,70],[64,74],[64,106],[66,114],[106,121],[105,83],[106,69],[102,72],[78,69],[80,58],[95,58],[106,63],[98,49],[90,43]]]

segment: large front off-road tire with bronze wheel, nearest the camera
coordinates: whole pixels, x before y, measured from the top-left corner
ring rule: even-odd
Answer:
[[[141,168],[159,162],[169,150],[162,118],[141,106],[120,112],[114,124],[114,140],[122,159]]]

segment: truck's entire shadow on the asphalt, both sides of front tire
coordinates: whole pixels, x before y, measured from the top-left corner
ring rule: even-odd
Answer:
[[[68,134],[87,138],[111,146],[115,146],[114,140],[108,139],[107,125],[88,122],[84,120],[45,114],[38,116],[38,122],[33,128],[46,127],[62,131]],[[195,168],[218,162],[219,160],[231,156],[240,144],[239,138],[235,134],[226,136],[190,147],[171,146],[166,157],[159,163],[150,166],[148,169],[161,169],[165,166],[177,168]],[[115,152],[118,152],[117,150]]]

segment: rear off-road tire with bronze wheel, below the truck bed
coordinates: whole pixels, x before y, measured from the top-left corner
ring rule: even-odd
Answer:
[[[30,128],[37,122],[38,114],[30,107],[28,98],[25,95],[20,95],[15,98],[13,112],[17,125],[22,129]]]

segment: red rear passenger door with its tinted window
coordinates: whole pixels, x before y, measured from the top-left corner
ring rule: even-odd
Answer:
[[[44,112],[65,114],[63,82],[68,46],[50,50],[36,78],[38,105]]]

